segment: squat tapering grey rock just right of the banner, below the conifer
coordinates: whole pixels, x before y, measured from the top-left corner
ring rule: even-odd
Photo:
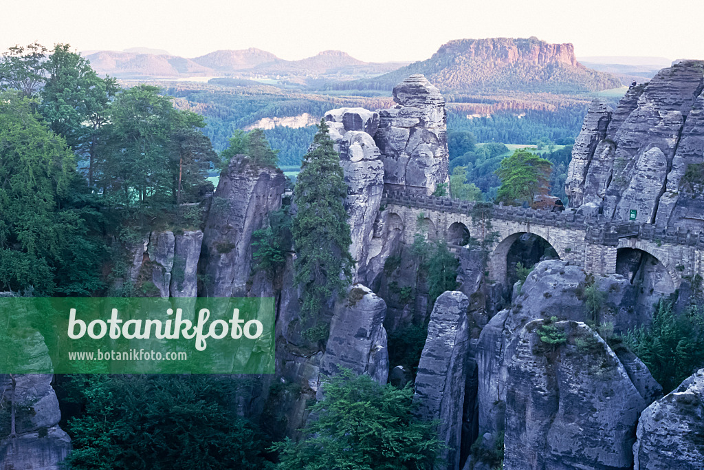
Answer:
[[[386,384],[389,351],[385,316],[386,303],[381,297],[368,287],[353,285],[346,299],[335,307],[320,372],[332,376],[345,368]]]

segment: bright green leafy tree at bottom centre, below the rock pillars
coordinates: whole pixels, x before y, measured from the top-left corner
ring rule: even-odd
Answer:
[[[379,385],[344,370],[322,385],[325,400],[303,440],[277,443],[280,469],[408,470],[431,468],[442,444],[435,423],[413,416],[413,389]]]

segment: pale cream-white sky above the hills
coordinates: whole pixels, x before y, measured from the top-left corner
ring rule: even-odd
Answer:
[[[577,56],[704,59],[702,0],[1,0],[0,51],[35,40],[194,57],[257,47],[417,61],[451,39],[536,36]]]

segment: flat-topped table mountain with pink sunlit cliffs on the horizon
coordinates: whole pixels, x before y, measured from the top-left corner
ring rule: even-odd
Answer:
[[[549,44],[531,37],[458,39],[425,61],[340,87],[391,89],[413,73],[422,73],[444,92],[575,93],[621,86],[615,76],[579,63],[572,44]]]

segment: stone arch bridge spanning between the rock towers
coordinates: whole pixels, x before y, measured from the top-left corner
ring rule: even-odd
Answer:
[[[429,238],[443,237],[455,248],[465,245],[470,236],[481,241],[496,233],[489,245],[488,268],[489,278],[501,283],[506,280],[508,249],[524,233],[543,238],[560,259],[582,266],[587,273],[616,273],[619,250],[630,248],[660,261],[673,290],[682,280],[698,283],[704,277],[704,233],[501,204],[491,206],[482,217],[472,202],[401,192],[385,192],[382,204],[389,216],[400,218],[396,220],[403,224],[407,244],[413,243],[420,230],[427,230]],[[486,227],[487,220],[491,229]]]

